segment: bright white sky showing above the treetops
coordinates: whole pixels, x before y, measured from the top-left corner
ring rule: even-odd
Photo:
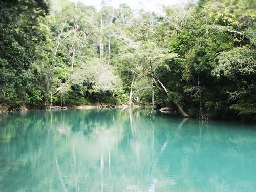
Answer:
[[[102,0],[71,0],[73,2],[83,2],[86,5],[93,5],[97,9],[100,8]],[[188,0],[105,0],[105,2],[115,8],[118,8],[121,3],[126,3],[133,10],[144,9],[150,12],[158,12],[161,10],[162,6],[184,4]]]

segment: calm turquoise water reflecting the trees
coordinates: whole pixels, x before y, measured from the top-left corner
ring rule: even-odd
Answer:
[[[0,191],[256,191],[255,125],[147,113],[0,116]]]

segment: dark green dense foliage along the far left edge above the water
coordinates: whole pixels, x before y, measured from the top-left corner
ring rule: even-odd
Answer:
[[[34,0],[2,1],[0,8],[0,103],[10,109],[32,105],[40,100],[32,67],[35,45],[44,39],[37,29],[38,18],[47,8]]]

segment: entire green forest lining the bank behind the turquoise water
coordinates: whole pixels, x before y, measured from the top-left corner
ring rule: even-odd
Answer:
[[[168,107],[256,116],[256,1],[199,0],[164,14],[102,2],[0,2],[0,110]]]

